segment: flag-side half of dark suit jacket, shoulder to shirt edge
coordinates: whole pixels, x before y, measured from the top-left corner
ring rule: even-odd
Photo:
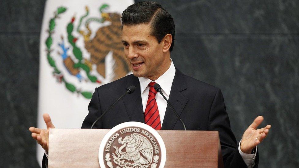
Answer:
[[[125,95],[123,99],[116,103],[115,106],[113,106],[109,112],[97,122],[94,128],[111,129],[115,125],[123,122],[141,121],[143,116],[141,103],[140,106],[128,109],[128,106],[135,104],[139,98],[141,101],[139,80],[134,75],[127,75],[95,89],[93,97],[88,105],[89,113],[85,117],[81,128],[90,128],[93,122],[100,117],[100,115],[106,111],[117,99],[119,99],[119,97],[123,95],[127,88],[131,85],[134,85],[136,90],[132,94]],[[137,112],[136,115],[131,114],[133,110],[139,111],[140,114]],[[134,117],[137,119],[134,119]]]

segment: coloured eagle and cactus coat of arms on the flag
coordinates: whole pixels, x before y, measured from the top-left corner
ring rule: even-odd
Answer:
[[[91,91],[85,91],[84,88],[78,88],[75,84],[68,81],[68,78],[76,78],[79,82],[102,83],[101,78],[107,77],[105,73],[105,57],[112,53],[112,73],[110,79],[116,80],[130,72],[127,59],[123,52],[121,43],[121,15],[118,12],[107,12],[108,4],[102,4],[99,7],[99,17],[89,17],[89,7],[85,6],[85,13],[82,16],[69,18],[66,24],[66,35],[61,34],[60,41],[53,43],[52,34],[61,33],[55,32],[56,21],[62,17],[67,11],[67,7],[58,7],[53,13],[53,17],[49,20],[48,37],[45,41],[47,60],[53,67],[53,76],[57,81],[64,83],[66,88],[71,92],[81,93],[85,98],[90,99]],[[78,19],[77,24],[74,21]],[[109,25],[102,27],[98,26],[95,30],[95,35],[92,36],[93,30],[91,24],[104,24],[109,22]],[[81,41],[78,41],[81,39]],[[58,39],[57,39],[58,40]],[[78,43],[83,42],[82,44]],[[52,47],[52,46],[56,47]],[[89,53],[89,57],[85,56],[82,50]],[[57,50],[57,54],[55,54]],[[59,55],[60,58],[56,61],[53,57]],[[58,66],[62,64],[63,66]],[[64,70],[62,70],[64,69]],[[112,75],[112,76],[111,76]],[[110,80],[111,81],[111,80]],[[109,80],[108,80],[109,82]]]

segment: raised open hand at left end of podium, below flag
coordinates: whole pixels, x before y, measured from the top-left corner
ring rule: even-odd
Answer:
[[[39,129],[35,127],[30,127],[29,131],[31,132],[31,136],[33,139],[37,141],[40,146],[42,146],[47,152],[49,150],[49,129],[55,128],[55,126],[51,122],[51,118],[49,114],[43,114],[44,121],[47,125],[47,129]]]

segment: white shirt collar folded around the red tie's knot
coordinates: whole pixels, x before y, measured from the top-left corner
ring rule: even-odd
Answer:
[[[167,96],[169,96],[170,94],[172,81],[174,79],[175,74],[176,68],[174,67],[174,64],[171,60],[171,64],[168,70],[165,73],[163,73],[163,75],[161,75],[157,80],[155,80],[155,82],[161,86],[161,90],[163,91],[163,93],[165,93]],[[146,90],[147,85],[150,82],[152,82],[152,80],[150,80],[147,77],[139,77],[138,79],[140,83],[140,91],[142,94]]]

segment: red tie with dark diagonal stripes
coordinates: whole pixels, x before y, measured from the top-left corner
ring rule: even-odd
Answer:
[[[158,110],[158,105],[156,102],[157,91],[153,87],[156,82],[149,83],[149,99],[146,103],[146,108],[144,112],[145,123],[151,126],[153,129],[161,129],[160,114]]]

